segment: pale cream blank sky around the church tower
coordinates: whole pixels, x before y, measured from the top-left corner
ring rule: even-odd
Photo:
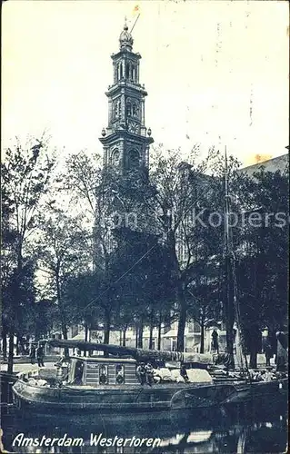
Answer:
[[[61,158],[102,153],[110,55],[136,9],[133,50],[155,143],[180,153],[226,145],[244,165],[286,153],[289,13],[271,0],[5,2],[2,146],[45,131]]]

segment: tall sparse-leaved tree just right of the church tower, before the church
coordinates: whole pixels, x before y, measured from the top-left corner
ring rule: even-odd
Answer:
[[[195,153],[190,163],[182,162],[178,152],[169,152],[168,159],[156,153],[151,184],[155,188],[151,199],[159,232],[162,232],[171,262],[172,279],[175,281],[175,297],[179,307],[177,350],[184,350],[184,332],[187,315],[185,291],[189,269],[193,266],[192,254],[187,241],[185,217],[192,212],[198,188],[197,173],[193,171]],[[185,252],[178,247],[185,246]]]

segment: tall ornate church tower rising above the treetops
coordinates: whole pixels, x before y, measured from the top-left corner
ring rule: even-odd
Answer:
[[[134,53],[133,38],[125,24],[120,50],[112,54],[114,83],[108,97],[108,126],[99,140],[104,147],[104,166],[114,166],[120,173],[148,173],[149,146],[154,140],[145,127],[145,86],[139,83],[141,55]]]

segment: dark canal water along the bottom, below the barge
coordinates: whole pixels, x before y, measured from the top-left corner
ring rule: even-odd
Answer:
[[[3,415],[1,427],[5,450],[19,453],[274,454],[287,451],[288,438],[286,409],[272,403],[263,410],[250,406],[139,415],[47,414],[28,418],[12,412]],[[45,442],[51,445],[47,439],[54,438],[54,446],[45,446]],[[110,439],[111,446],[105,446]],[[140,445],[142,439],[145,441]],[[148,439],[150,446],[146,445]]]

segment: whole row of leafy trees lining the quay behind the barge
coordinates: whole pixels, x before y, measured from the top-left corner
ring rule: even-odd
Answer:
[[[2,325],[9,370],[14,336],[20,341],[60,329],[67,339],[73,324],[85,326],[85,338],[102,325],[106,343],[114,327],[123,331],[124,345],[133,326],[139,347],[148,326],[150,348],[157,327],[160,348],[161,327],[176,320],[177,350],[185,349],[186,321],[200,324],[201,350],[207,321],[233,327],[221,153],[212,149],[200,161],[195,148],[183,160],[178,150],[157,148],[149,176],[103,169],[100,156],[84,152],[59,170],[53,154],[45,139],[26,147],[17,142],[2,163]],[[255,365],[260,330],[274,331],[286,317],[287,224],[281,213],[286,219],[287,179],[263,170],[249,178],[232,157],[227,167],[235,218],[231,281]],[[260,222],[252,222],[253,213]]]

